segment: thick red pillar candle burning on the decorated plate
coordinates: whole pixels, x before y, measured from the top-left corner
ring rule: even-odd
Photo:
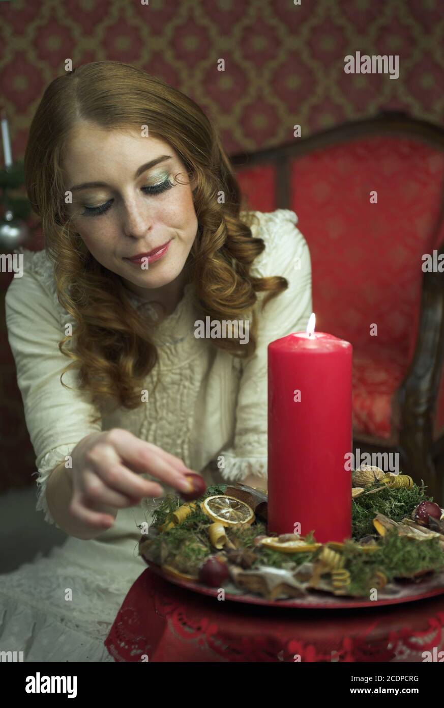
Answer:
[[[351,537],[349,342],[296,332],[268,346],[268,532]]]

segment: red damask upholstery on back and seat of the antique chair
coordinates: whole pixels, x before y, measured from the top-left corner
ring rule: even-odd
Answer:
[[[436,229],[443,185],[443,152],[399,136],[354,139],[291,166],[291,207],[312,257],[317,327],[354,346],[358,440],[398,442],[394,396],[416,346],[422,256],[444,244],[444,224]],[[437,438],[444,379],[434,427]]]

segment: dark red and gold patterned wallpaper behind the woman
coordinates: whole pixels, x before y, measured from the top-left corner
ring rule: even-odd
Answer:
[[[291,142],[295,123],[305,137],[381,108],[444,121],[444,0],[1,0],[0,25],[16,157],[66,58],[117,59],[173,84],[231,153]],[[345,74],[356,51],[399,55],[399,79]]]

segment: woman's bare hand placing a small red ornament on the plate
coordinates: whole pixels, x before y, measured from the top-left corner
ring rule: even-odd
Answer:
[[[162,486],[143,479],[142,473],[178,491],[191,491],[185,473],[192,470],[181,459],[122,428],[86,435],[71,457],[68,472],[73,496],[69,510],[97,529],[111,527],[118,509],[135,506],[147,496],[163,496]]]

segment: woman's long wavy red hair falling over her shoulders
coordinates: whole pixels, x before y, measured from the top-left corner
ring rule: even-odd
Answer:
[[[64,144],[76,121],[100,127],[148,125],[150,135],[170,144],[194,176],[199,224],[187,259],[202,319],[250,319],[250,341],[212,339],[213,346],[249,358],[257,346],[252,308],[288,287],[285,278],[254,278],[250,266],[264,250],[253,238],[254,215],[244,209],[240,188],[214,125],[191,98],[155,76],[121,62],[92,62],[49,84],[30,126],[25,152],[28,198],[40,215],[45,249],[54,263],[57,297],[74,319],[73,336],[59,349],[78,369],[78,388],[102,411],[141,405],[144,379],[158,360],[156,347],[119,275],[73,238],[64,203]],[[218,199],[223,193],[224,200]],[[221,203],[221,201],[223,203]],[[241,218],[242,215],[242,218]],[[63,376],[62,373],[62,376]],[[61,376],[61,380],[62,380]],[[64,382],[62,381],[63,385]],[[94,418],[98,420],[100,415]]]

